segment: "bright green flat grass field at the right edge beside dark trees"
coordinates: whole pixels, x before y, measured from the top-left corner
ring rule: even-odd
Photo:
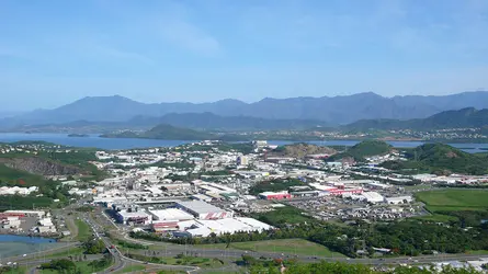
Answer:
[[[485,190],[429,191],[419,192],[416,197],[425,203],[431,213],[488,209],[488,191]]]

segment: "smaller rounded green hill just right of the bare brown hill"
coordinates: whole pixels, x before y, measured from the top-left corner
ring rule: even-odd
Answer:
[[[353,158],[355,161],[363,161],[370,156],[385,155],[391,151],[393,147],[381,140],[364,140],[350,147],[342,153],[329,157],[330,161],[341,160],[343,158]]]

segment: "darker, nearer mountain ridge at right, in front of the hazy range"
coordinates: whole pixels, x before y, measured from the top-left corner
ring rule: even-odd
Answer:
[[[408,121],[399,119],[361,119],[344,126],[347,129],[441,129],[488,126],[488,109],[466,107],[457,111],[445,111],[427,118]]]

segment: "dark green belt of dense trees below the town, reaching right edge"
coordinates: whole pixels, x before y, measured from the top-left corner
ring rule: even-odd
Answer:
[[[488,230],[486,226],[474,226],[465,229],[459,222],[450,226],[432,221],[405,220],[383,225],[367,225],[358,220],[358,226],[342,227],[333,224],[321,224],[309,219],[299,225],[276,224],[279,230],[263,232],[238,232],[234,235],[206,238],[168,239],[146,232],[132,232],[134,238],[173,243],[208,244],[274,239],[300,238],[322,244],[331,251],[358,256],[358,251],[366,248],[368,255],[373,248],[390,249],[396,255],[432,254],[433,251],[463,253],[467,250],[488,250]]]

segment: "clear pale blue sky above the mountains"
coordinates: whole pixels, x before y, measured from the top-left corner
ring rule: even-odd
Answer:
[[[487,0],[0,1],[3,111],[488,90]]]

